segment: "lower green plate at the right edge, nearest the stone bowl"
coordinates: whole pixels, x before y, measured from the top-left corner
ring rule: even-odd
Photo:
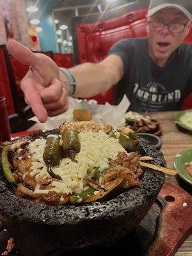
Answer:
[[[183,150],[179,154],[177,154],[173,160],[173,166],[175,170],[177,170],[179,176],[186,180],[190,185],[192,185],[192,177],[186,171],[187,166],[185,163],[192,161],[192,148]]]

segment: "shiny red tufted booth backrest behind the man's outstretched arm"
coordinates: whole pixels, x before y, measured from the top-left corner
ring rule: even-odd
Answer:
[[[79,63],[104,60],[111,46],[123,38],[146,36],[146,14],[145,8],[94,24],[77,25]],[[113,88],[88,99],[95,99],[99,104],[106,101],[113,104]]]

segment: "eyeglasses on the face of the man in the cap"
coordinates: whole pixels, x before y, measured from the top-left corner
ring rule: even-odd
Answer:
[[[150,30],[152,31],[161,31],[164,26],[168,27],[168,30],[171,33],[180,33],[182,31],[184,31],[184,28],[186,28],[187,24],[181,24],[181,23],[169,23],[169,24],[164,24],[163,22],[159,22],[159,21],[148,21],[148,26],[150,28]]]

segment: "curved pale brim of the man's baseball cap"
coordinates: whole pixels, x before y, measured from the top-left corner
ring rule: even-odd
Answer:
[[[186,15],[186,17],[188,17],[189,20],[192,19],[191,13],[186,8],[184,8],[178,4],[160,4],[154,8],[149,9],[148,13],[147,13],[147,17],[151,17],[159,10],[162,10],[162,9],[168,8],[168,7],[175,8],[175,9],[179,10],[180,12],[182,12],[184,15]]]

